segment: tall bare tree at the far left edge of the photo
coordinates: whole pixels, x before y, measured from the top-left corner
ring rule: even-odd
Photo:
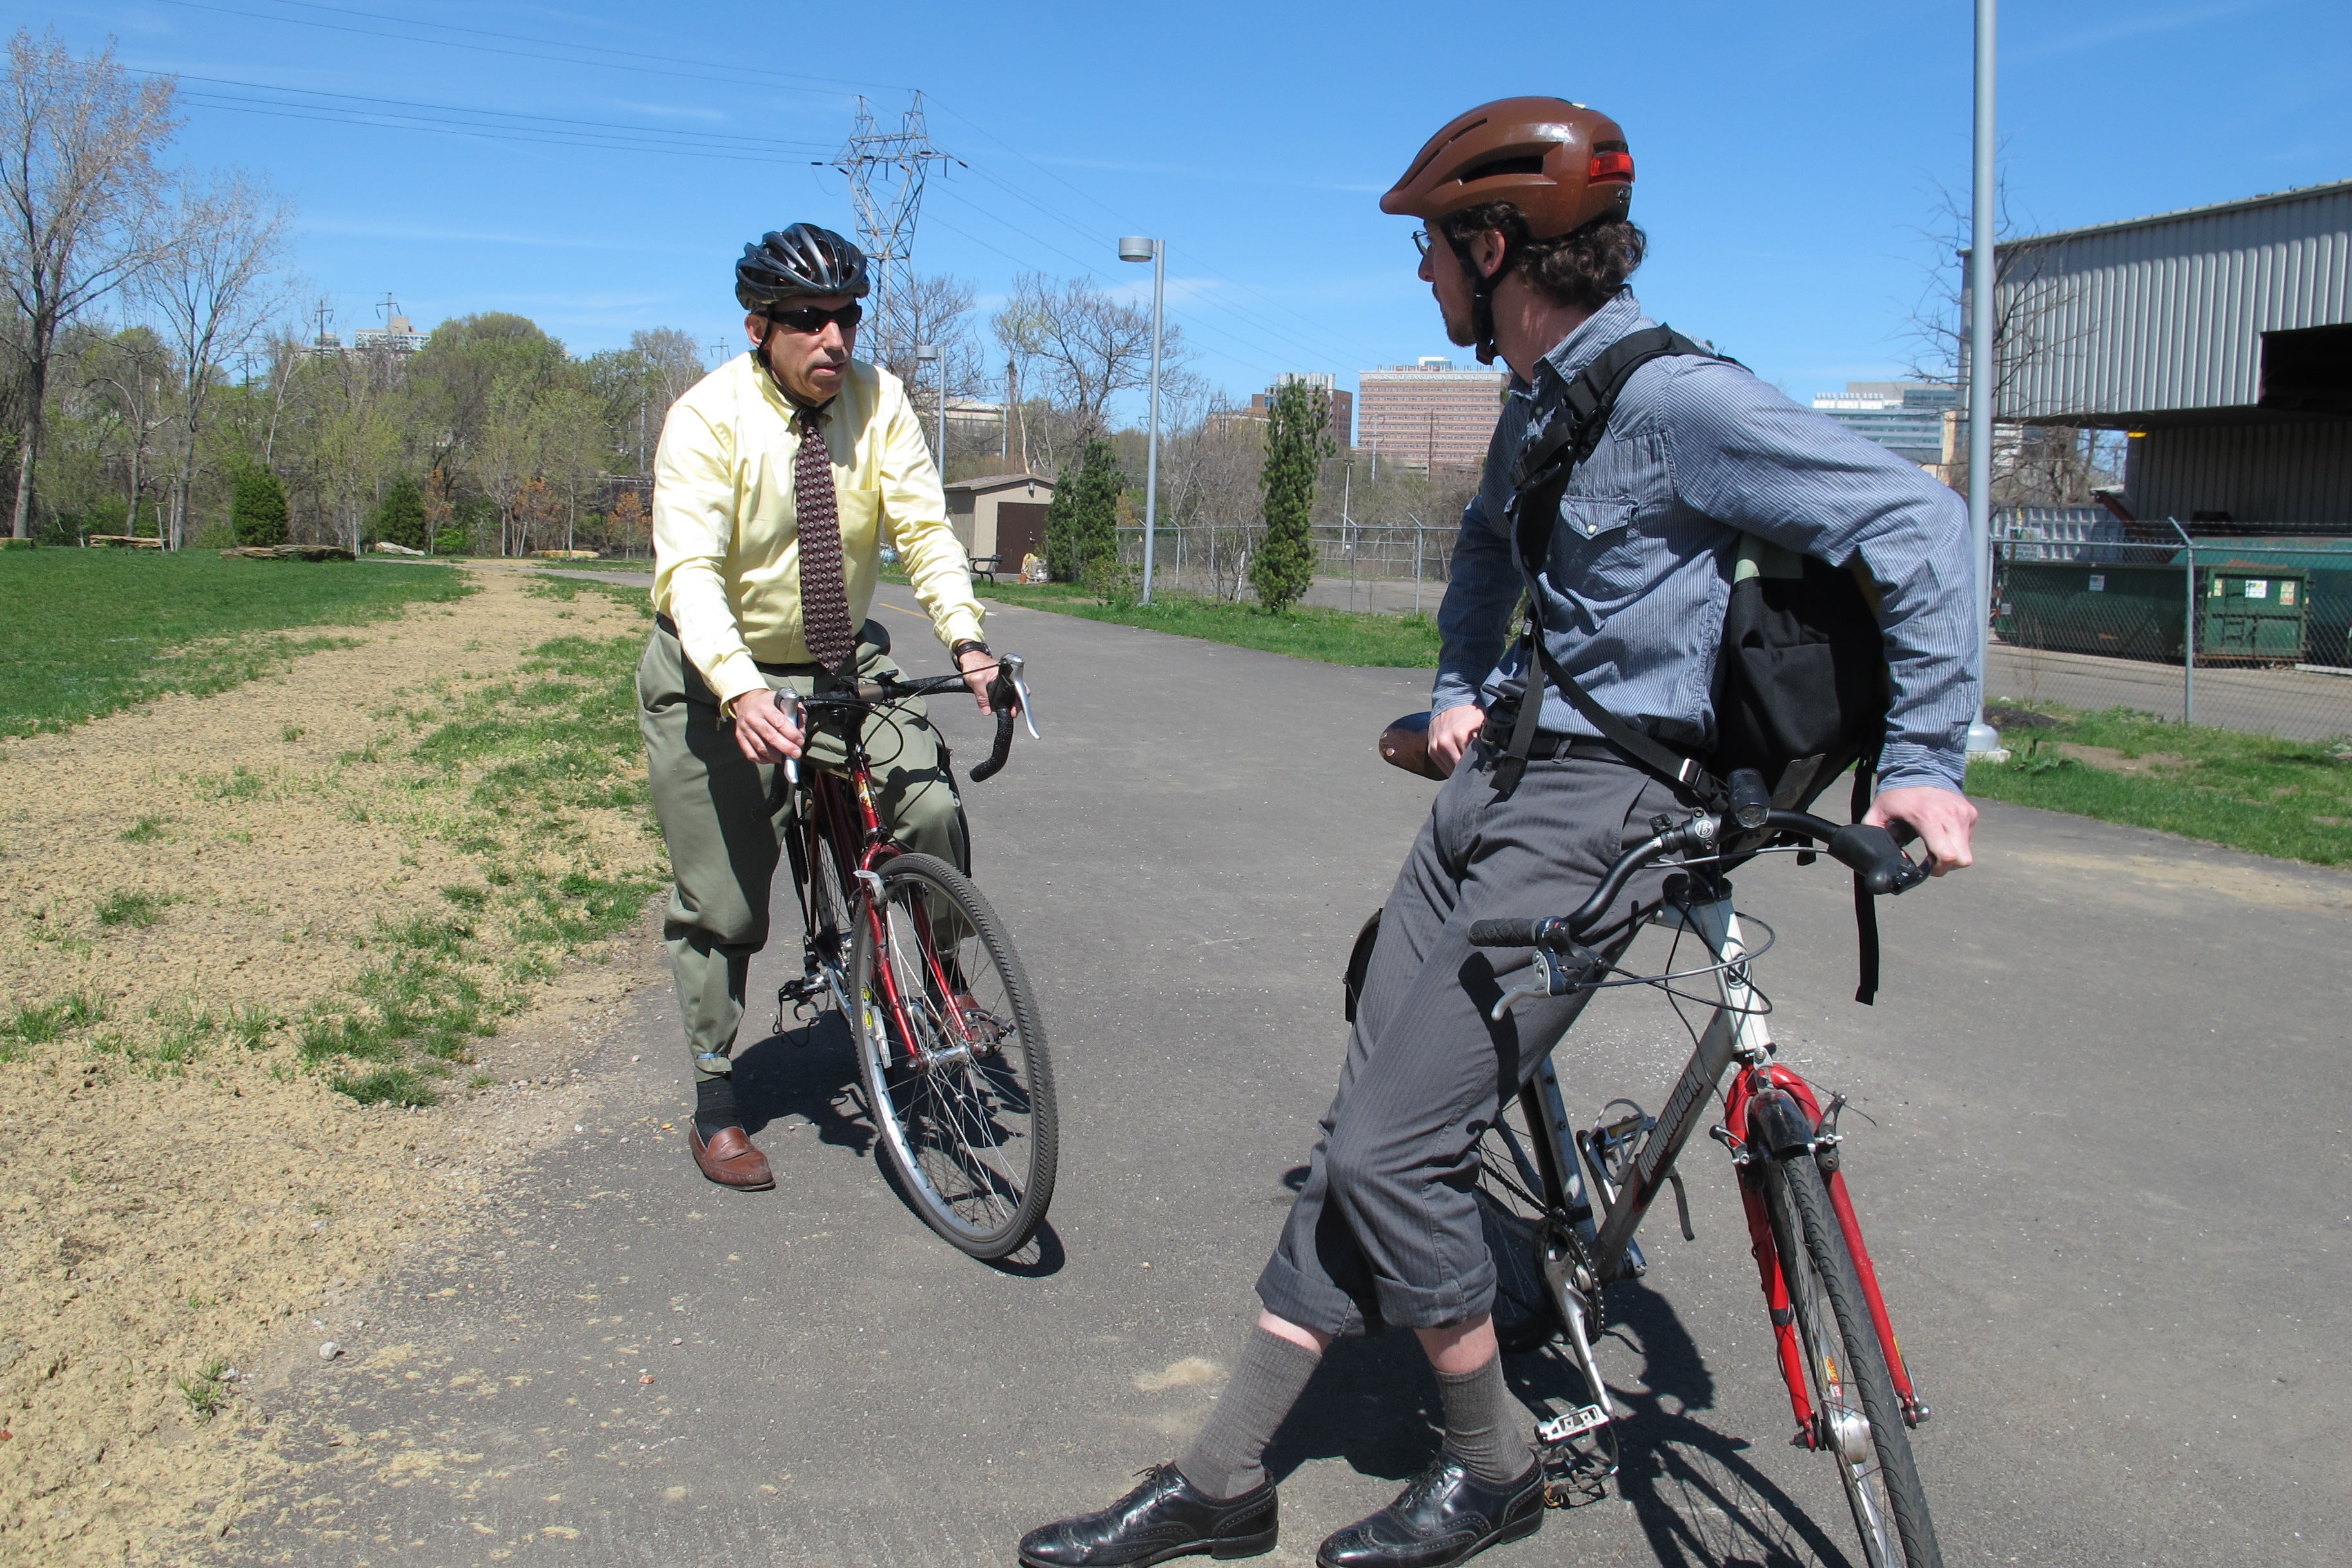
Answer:
[[[0,280],[24,313],[24,444],[12,534],[26,536],[56,331],[155,256],[155,153],[176,82],[129,78],[113,45],[75,59],[54,33],[16,31],[0,78]]]

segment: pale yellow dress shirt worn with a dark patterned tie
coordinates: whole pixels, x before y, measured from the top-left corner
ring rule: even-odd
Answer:
[[[800,632],[800,524],[793,461],[797,409],[741,353],[670,404],[654,456],[654,609],[724,708],[757,691],[757,663],[809,663]],[[818,414],[842,517],[849,623],[873,609],[882,541],[941,644],[981,635],[969,557],[948,527],[938,468],[896,376],[849,362],[840,395]]]

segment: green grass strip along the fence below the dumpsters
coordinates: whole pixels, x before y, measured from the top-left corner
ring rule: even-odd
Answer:
[[[2039,722],[2037,722],[2039,719]],[[2114,708],[2002,708],[2013,757],[1969,769],[1969,795],[2157,827],[2258,856],[2352,865],[2352,745],[2169,724]],[[2067,748],[2103,748],[2070,755]],[[2138,762],[2140,771],[2122,764]]]

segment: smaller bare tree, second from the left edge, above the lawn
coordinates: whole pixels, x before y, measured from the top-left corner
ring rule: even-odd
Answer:
[[[205,393],[223,362],[254,346],[280,303],[270,273],[285,252],[289,221],[285,202],[238,172],[202,186],[181,183],[176,195],[174,244],[139,287],[172,334],[186,378],[179,473],[172,477],[174,550],[188,529],[188,484],[195,475]]]

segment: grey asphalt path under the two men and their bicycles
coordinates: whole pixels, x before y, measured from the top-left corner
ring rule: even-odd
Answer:
[[[943,665],[891,604],[908,665]],[[739,1079],[779,1187],[710,1187],[654,992],[586,1063],[581,1131],[390,1274],[365,1328],[334,1324],[339,1361],[263,1394],[313,1469],[228,1561],[1011,1563],[1023,1528],[1181,1448],[1331,1093],[1348,943],[1428,809],[1371,750],[1428,677],[1002,607],[990,637],[1030,656],[1047,733],[967,788],[1061,1081],[1042,1246],[988,1267],[915,1220],[833,1020],[755,1016]],[[978,715],[934,712],[969,764]],[[1849,999],[1832,867],[1740,879],[1778,931],[1783,1060],[1856,1100],[1846,1171],[1936,1406],[1947,1561],[2340,1561],[2352,877],[2004,806],[1980,853],[1884,905],[1877,1009]],[[755,992],[795,929],[783,900]],[[1571,1103],[1656,1107],[1686,1051],[1651,992],[1609,997],[1562,1053]],[[1484,1561],[1846,1561],[1830,1467],[1788,1446],[1722,1152],[1686,1171],[1698,1241],[1661,1211],[1646,1281],[1611,1298],[1618,1488]],[[1541,1356],[1512,1378],[1562,1389]],[[1435,1408],[1406,1335],[1336,1347],[1270,1453],[1265,1561],[1385,1502]]]

